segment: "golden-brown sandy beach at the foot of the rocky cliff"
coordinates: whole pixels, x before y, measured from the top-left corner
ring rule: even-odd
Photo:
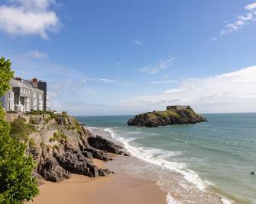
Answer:
[[[45,182],[41,185],[40,194],[34,198],[34,204],[131,204],[166,203],[166,195],[155,183],[141,180],[125,174],[122,163],[125,158],[115,156],[114,161],[93,162],[98,167],[108,167],[115,174],[107,177],[89,178],[73,174],[70,180],[60,183]]]

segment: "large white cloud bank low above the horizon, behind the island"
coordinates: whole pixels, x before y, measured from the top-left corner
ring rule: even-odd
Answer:
[[[122,100],[129,110],[163,110],[170,104],[189,104],[199,112],[256,111],[256,65],[207,78],[183,80],[160,94],[139,95]]]

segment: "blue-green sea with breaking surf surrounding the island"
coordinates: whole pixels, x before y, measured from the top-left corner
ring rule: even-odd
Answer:
[[[133,116],[77,118],[140,158],[126,169],[154,180],[168,203],[256,203],[256,113],[203,116],[208,122],[159,128],[127,126]]]

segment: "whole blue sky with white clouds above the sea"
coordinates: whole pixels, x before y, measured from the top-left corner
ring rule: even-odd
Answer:
[[[75,116],[256,112],[255,0],[0,0],[0,56]]]

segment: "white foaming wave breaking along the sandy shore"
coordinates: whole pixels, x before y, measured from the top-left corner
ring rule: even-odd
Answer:
[[[182,189],[186,192],[192,191],[190,194],[195,194],[195,192],[199,193],[199,191],[205,193],[206,188],[212,183],[209,183],[207,180],[202,180],[198,174],[196,174],[194,171],[187,168],[186,163],[182,162],[173,162],[173,161],[167,161],[167,159],[170,159],[172,157],[175,157],[177,155],[182,155],[182,152],[180,151],[167,151],[160,148],[146,148],[146,147],[139,147],[135,145],[131,145],[132,141],[138,139],[138,137],[129,137],[129,138],[123,138],[119,136],[112,128],[105,128],[106,132],[109,132],[112,139],[117,140],[118,142],[122,142],[122,144],[125,146],[125,148],[129,151],[131,155],[133,155],[136,158],[140,158],[142,161],[146,161],[147,163],[157,165],[162,170],[166,170],[169,172],[175,172],[177,174],[180,174],[180,176],[174,176],[177,177],[177,186],[176,189]],[[157,170],[159,171],[159,170]],[[173,175],[172,175],[173,177]],[[166,179],[166,175],[159,177],[159,180],[157,181],[157,185],[159,186],[166,186],[168,181]],[[170,183],[173,185],[173,183]],[[171,187],[173,190],[173,187]],[[192,190],[193,189],[193,190]],[[195,190],[196,189],[196,190]],[[181,191],[181,190],[180,190]],[[179,191],[179,193],[180,193]],[[185,193],[186,194],[186,193]],[[205,193],[206,197],[208,193]],[[195,196],[195,195],[193,195]],[[185,197],[189,200],[191,197],[186,195]],[[216,199],[215,196],[212,196],[213,199]],[[231,203],[227,199],[222,198],[222,203]],[[174,199],[171,195],[171,192],[167,194],[167,203],[182,203],[178,199]],[[215,203],[215,202],[211,202]],[[217,203],[217,202],[216,202]]]

